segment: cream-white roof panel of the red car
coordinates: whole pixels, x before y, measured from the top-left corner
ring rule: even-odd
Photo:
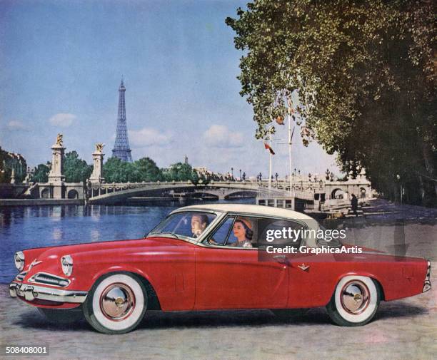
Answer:
[[[286,217],[291,220],[314,220],[312,217],[293,210],[283,209],[281,207],[271,207],[264,205],[247,205],[247,204],[211,204],[211,205],[191,205],[180,207],[175,211],[181,210],[212,210],[221,212],[245,212],[253,215],[271,215],[277,217]]]

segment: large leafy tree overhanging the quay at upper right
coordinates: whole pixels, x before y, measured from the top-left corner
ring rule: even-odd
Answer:
[[[435,1],[260,0],[237,16],[226,24],[258,138],[297,91],[304,143],[366,168],[387,197],[402,185],[408,202],[436,204]]]

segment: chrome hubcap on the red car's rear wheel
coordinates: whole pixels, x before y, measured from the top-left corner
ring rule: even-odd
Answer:
[[[350,314],[361,314],[366,310],[370,293],[366,284],[352,280],[343,286],[340,294],[341,305]]]

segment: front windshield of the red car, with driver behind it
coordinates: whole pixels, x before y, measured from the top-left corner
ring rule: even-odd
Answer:
[[[178,239],[181,237],[195,239],[201,236],[215,217],[216,215],[210,212],[176,212],[169,215],[147,236],[170,235]]]

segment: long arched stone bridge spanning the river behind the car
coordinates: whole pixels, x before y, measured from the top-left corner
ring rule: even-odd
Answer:
[[[35,186],[35,185],[34,185]],[[53,185],[36,184],[34,197],[53,198]],[[350,203],[351,194],[360,199],[371,197],[371,185],[360,178],[348,181],[295,181],[290,185],[286,180],[274,180],[268,189],[268,181],[211,181],[206,185],[192,182],[126,182],[92,183],[84,187],[82,183],[65,182],[61,187],[62,197],[84,199],[90,204],[117,204],[126,200],[172,200],[184,202],[188,199],[228,200],[238,197],[256,197],[259,205],[288,207],[296,210],[321,210],[322,206]]]

